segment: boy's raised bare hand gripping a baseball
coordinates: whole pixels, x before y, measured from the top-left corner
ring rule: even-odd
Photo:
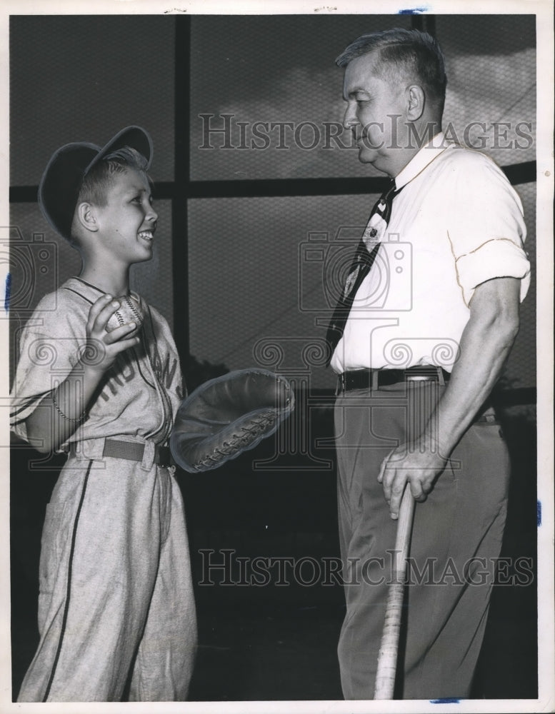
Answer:
[[[137,336],[126,338],[136,328],[134,322],[106,332],[106,324],[117,308],[119,301],[111,295],[104,295],[91,307],[86,323],[87,351],[82,359],[87,366],[102,372],[114,364],[120,352],[139,343]]]

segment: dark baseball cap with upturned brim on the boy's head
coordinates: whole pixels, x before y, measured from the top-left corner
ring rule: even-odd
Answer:
[[[139,151],[146,159],[146,168],[149,168],[152,139],[140,126],[121,129],[104,148],[76,141],[54,151],[39,183],[39,206],[46,220],[61,236],[71,240],[71,223],[85,176],[104,156],[124,146]]]

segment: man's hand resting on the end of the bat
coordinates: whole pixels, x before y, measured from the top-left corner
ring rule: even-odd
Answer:
[[[407,481],[415,501],[426,501],[436,478],[443,473],[448,459],[441,455],[439,444],[431,438],[420,438],[394,448],[381,462],[378,481],[384,486],[391,518],[399,517],[399,506]]]

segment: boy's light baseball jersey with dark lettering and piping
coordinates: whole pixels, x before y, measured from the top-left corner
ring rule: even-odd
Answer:
[[[11,426],[21,438],[27,438],[26,418],[79,360],[89,311],[102,294],[80,278],[69,278],[40,301],[26,324],[11,394]],[[179,358],[166,320],[134,296],[145,313],[141,343],[119,354],[68,442],[128,436],[164,443],[169,437],[182,398]],[[88,358],[94,360],[94,346]]]

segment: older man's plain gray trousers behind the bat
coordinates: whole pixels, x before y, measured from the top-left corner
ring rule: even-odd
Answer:
[[[444,389],[433,382],[354,390],[336,400],[339,535],[346,617],[339,638],[346,699],[374,698],[396,521],[376,476],[414,438]],[[499,424],[478,422],[416,503],[396,697],[469,696],[506,518],[509,454]]]

